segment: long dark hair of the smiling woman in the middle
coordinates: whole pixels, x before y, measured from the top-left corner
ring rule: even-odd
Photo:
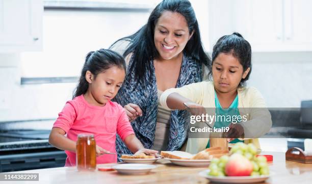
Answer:
[[[144,81],[143,78],[146,71],[151,71],[152,66],[148,61],[159,56],[154,44],[154,29],[155,24],[164,11],[176,12],[183,15],[188,23],[189,33],[191,34],[194,31],[193,36],[183,50],[184,54],[205,65],[208,65],[211,61],[203,49],[198,22],[191,3],[187,0],[164,0],[155,7],[149,16],[147,23],[139,31],[131,36],[116,41],[131,40],[131,44],[125,50],[123,56],[126,57],[133,52],[135,63],[129,68],[129,70],[134,69],[135,77],[138,82]]]

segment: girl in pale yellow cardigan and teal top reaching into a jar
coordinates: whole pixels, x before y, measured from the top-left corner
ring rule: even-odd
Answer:
[[[213,48],[210,77],[213,81],[193,83],[181,88],[168,89],[160,97],[163,107],[185,110],[186,106],[203,112],[214,108],[213,114],[241,115],[239,123],[214,121],[212,127],[228,126],[225,135],[230,143],[253,143],[260,148],[257,137],[269,132],[272,121],[261,93],[246,87],[251,73],[251,46],[242,35],[233,33],[221,37]],[[193,111],[193,112],[192,112]],[[240,138],[240,139],[234,139]],[[186,151],[199,152],[209,147],[209,138],[189,138]]]

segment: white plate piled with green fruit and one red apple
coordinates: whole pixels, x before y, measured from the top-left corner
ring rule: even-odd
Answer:
[[[250,183],[262,182],[270,177],[267,157],[257,155],[253,144],[237,143],[230,155],[213,159],[209,169],[201,171],[200,176],[211,182]]]

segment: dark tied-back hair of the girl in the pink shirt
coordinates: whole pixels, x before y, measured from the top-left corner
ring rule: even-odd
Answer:
[[[117,52],[103,48],[96,51],[90,51],[86,56],[86,61],[81,71],[79,83],[74,90],[72,98],[87,92],[89,83],[86,80],[86,72],[88,70],[94,75],[94,78],[96,78],[98,73],[104,72],[112,66],[117,66],[126,71],[125,61]]]

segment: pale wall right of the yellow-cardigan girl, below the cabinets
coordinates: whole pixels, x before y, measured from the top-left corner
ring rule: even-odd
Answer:
[[[256,52],[249,85],[256,87],[270,108],[300,107],[312,100],[312,52]]]

